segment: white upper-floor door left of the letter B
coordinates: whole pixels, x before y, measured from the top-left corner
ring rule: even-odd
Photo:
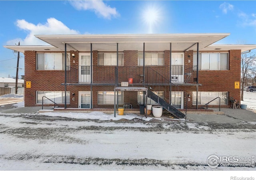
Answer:
[[[184,82],[184,53],[172,53],[172,82]]]

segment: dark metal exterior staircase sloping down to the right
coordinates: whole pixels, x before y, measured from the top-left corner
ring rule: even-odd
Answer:
[[[162,106],[164,109],[166,109],[168,112],[170,112],[172,115],[174,115],[176,118],[184,119],[186,118],[186,115],[180,112],[178,109],[174,108],[172,105],[167,103],[165,100],[160,98],[158,95],[154,94],[154,92],[148,90],[148,97],[155,102],[157,102],[160,106]]]

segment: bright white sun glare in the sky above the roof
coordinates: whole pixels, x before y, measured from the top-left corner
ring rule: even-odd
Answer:
[[[143,22],[148,28],[148,33],[153,33],[154,27],[160,22],[160,8],[148,6],[143,12]]]

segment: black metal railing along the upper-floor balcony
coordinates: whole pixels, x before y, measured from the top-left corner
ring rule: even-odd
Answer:
[[[118,66],[118,78],[115,74],[116,66],[67,66],[67,83],[93,84],[121,84],[129,82],[130,86],[142,84],[163,84],[170,80],[170,66]],[[172,66],[172,83],[196,83],[196,66]],[[118,82],[115,82],[118,79]],[[144,82],[145,81],[145,82]]]

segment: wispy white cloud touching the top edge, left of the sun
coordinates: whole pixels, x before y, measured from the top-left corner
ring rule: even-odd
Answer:
[[[106,19],[111,19],[112,16],[116,17],[119,15],[116,8],[107,6],[102,0],[70,1],[70,4],[77,10],[93,10],[98,16]]]

